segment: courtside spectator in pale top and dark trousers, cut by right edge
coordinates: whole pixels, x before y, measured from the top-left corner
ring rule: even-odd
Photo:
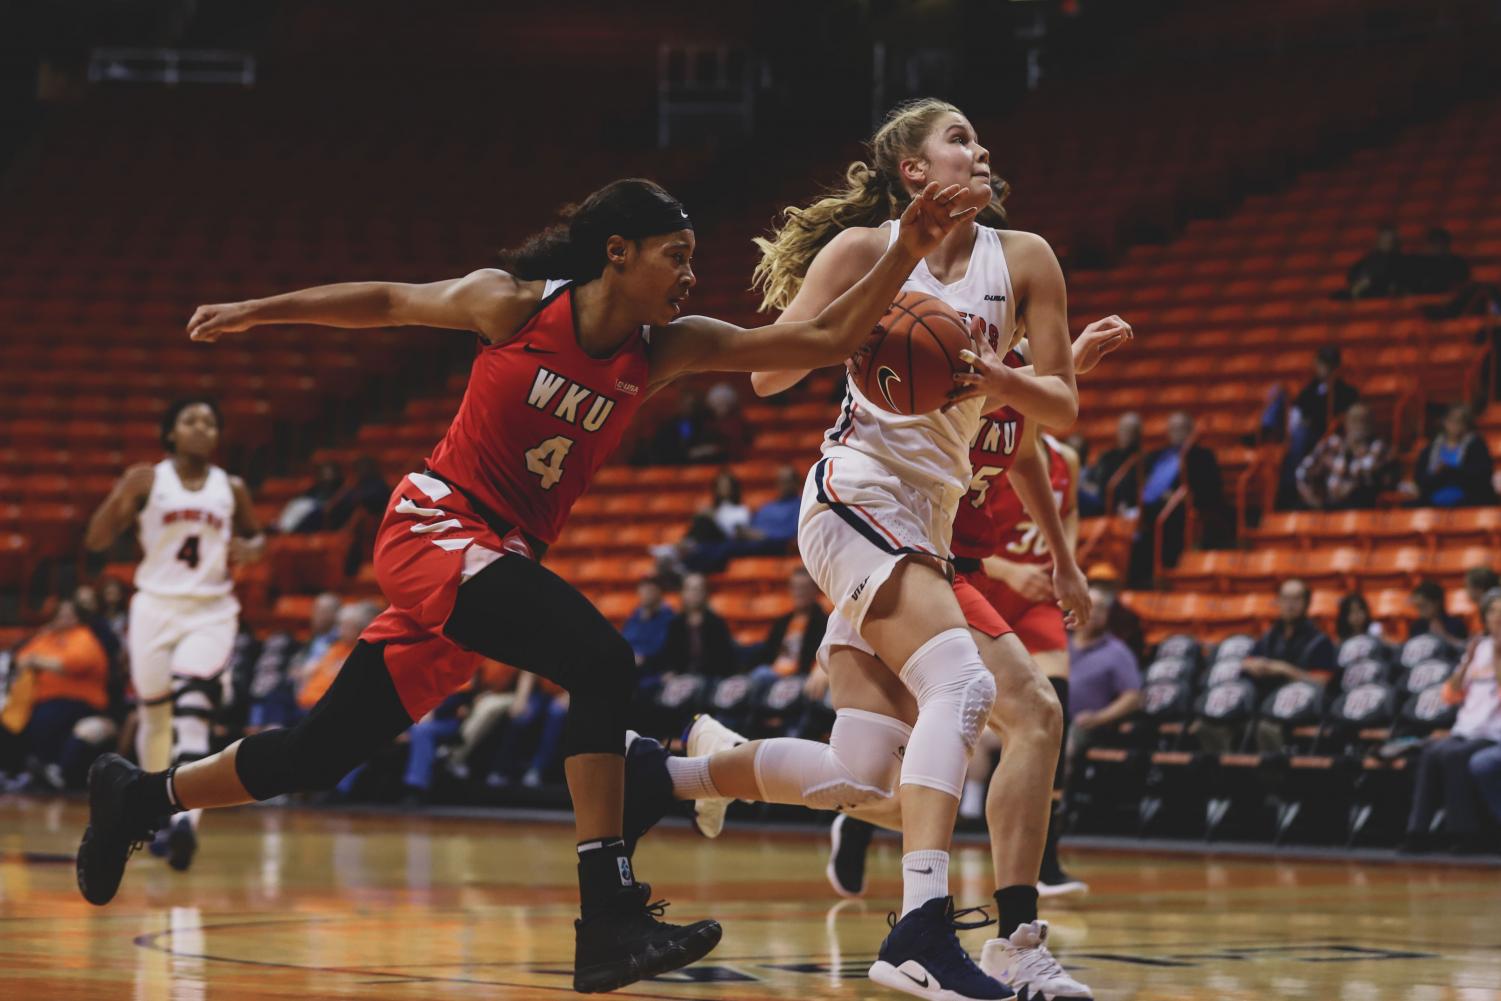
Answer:
[[[1480,798],[1471,780],[1471,758],[1501,741],[1501,690],[1496,687],[1496,642],[1501,641],[1501,590],[1487,591],[1480,617],[1484,636],[1474,644],[1459,669],[1444,683],[1444,701],[1459,707],[1448,737],[1429,741],[1414,770],[1412,810],[1408,813],[1403,851],[1427,851],[1438,807],[1444,807],[1444,827],[1453,848],[1477,851],[1480,837]]]

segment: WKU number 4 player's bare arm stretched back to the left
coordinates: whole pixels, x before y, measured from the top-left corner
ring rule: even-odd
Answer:
[[[188,336],[218,341],[225,333],[267,323],[308,323],[324,327],[444,327],[473,330],[494,342],[521,329],[536,308],[540,290],[542,282],[524,282],[497,269],[423,285],[341,282],[269,299],[198,306],[188,321]]]

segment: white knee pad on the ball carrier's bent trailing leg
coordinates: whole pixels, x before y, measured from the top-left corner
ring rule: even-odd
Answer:
[[[842,708],[827,744],[778,737],[757,746],[755,780],[766,803],[839,810],[890,798],[911,728],[899,719]]]

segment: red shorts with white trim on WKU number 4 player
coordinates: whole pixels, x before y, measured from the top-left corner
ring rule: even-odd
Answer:
[[[513,548],[438,479],[411,473],[392,492],[375,536],[375,579],[390,608],[360,639],[386,644],[386,669],[413,720],[474,675],[480,654],[444,636],[443,627],[459,584]]]

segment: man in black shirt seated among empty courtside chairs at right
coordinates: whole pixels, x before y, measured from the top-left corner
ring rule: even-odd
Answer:
[[[1307,584],[1297,578],[1277,588],[1277,621],[1241,660],[1241,674],[1256,686],[1256,702],[1288,681],[1325,684],[1334,672],[1334,644],[1309,615],[1313,597]],[[1211,753],[1235,750],[1235,734],[1217,723],[1202,723],[1196,729],[1199,746]],[[1282,726],[1262,722],[1256,726],[1256,749],[1261,753],[1282,750],[1286,738]]]

